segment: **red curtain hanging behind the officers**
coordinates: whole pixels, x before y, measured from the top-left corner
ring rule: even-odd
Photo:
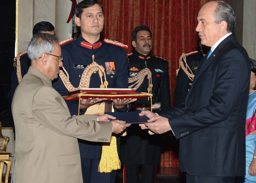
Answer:
[[[101,0],[105,26],[102,38],[127,44],[133,52],[131,32],[136,26],[151,29],[152,54],[169,62],[171,99],[176,82],[176,69],[182,53],[195,51],[198,46],[198,11],[210,0]],[[171,133],[163,134],[161,166],[177,167],[178,141]]]

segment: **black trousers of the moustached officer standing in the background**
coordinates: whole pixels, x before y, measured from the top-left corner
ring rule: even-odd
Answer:
[[[124,165],[123,175],[124,183],[138,183],[140,165]],[[142,164],[141,165],[142,173],[142,183],[155,183],[157,166]]]

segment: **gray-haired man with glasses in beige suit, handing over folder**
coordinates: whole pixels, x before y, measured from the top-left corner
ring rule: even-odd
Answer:
[[[28,46],[31,67],[12,101],[16,129],[15,183],[82,183],[77,138],[110,142],[128,124],[110,115],[70,116],[52,87],[62,66],[58,37],[39,34]],[[108,121],[108,122],[107,122]]]

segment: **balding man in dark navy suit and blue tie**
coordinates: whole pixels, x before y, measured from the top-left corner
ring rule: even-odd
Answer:
[[[180,170],[187,183],[233,183],[245,174],[245,115],[250,84],[250,61],[232,35],[236,17],[222,1],[210,1],[198,13],[196,31],[210,46],[185,102],[159,113],[149,111],[149,128],[173,131],[180,139]],[[211,53],[212,52],[212,53]],[[164,117],[163,117],[164,116]]]

